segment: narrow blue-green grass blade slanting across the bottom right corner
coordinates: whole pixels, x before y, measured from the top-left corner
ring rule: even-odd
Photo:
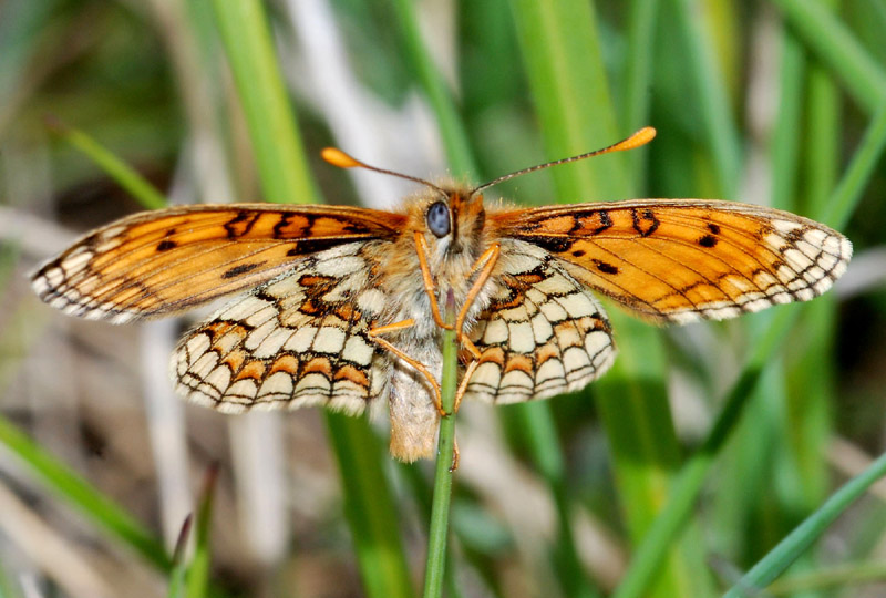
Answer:
[[[756,596],[760,589],[781,575],[814,543],[846,508],[886,475],[886,454],[880,455],[862,474],[835,492],[814,514],[800,524],[763,559],[742,577],[727,594],[727,598]]]

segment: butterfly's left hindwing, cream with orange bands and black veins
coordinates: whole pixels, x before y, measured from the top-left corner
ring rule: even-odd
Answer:
[[[367,244],[305,258],[179,342],[179,394],[227,413],[326,405],[359,413],[387,388],[389,360],[367,331],[384,307]]]

